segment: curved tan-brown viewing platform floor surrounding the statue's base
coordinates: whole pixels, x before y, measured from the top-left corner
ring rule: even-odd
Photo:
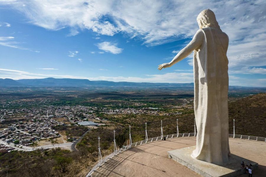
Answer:
[[[107,160],[92,173],[92,176],[117,177],[191,177],[201,176],[186,166],[177,163],[168,157],[168,151],[182,149],[196,145],[195,137],[175,137],[166,141],[154,141],[138,145],[123,151],[112,159]],[[266,143],[256,140],[229,138],[231,154],[237,156],[232,166],[241,167],[241,160],[248,159],[258,163],[253,170],[253,177],[266,176]],[[240,160],[241,159],[241,160]],[[238,162],[238,160],[240,160]],[[244,163],[245,162],[244,160]],[[232,168],[233,169],[233,168]],[[215,170],[215,169],[214,169]],[[246,176],[244,174],[239,176]]]

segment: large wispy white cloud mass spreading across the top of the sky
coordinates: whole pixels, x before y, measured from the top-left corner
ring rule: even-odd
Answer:
[[[49,30],[70,27],[74,31],[87,28],[97,35],[125,33],[147,46],[190,39],[198,29],[197,15],[210,8],[229,36],[229,72],[246,73],[251,66],[266,65],[266,1],[263,0],[195,0],[193,3],[187,0],[154,0],[152,3],[144,0],[88,0],[86,3],[84,0],[13,0],[1,1],[1,4],[17,9],[30,23]],[[192,65],[191,58],[188,62]]]

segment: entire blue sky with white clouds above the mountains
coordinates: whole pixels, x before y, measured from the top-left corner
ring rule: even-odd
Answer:
[[[229,84],[266,86],[266,3],[0,0],[0,78],[193,82],[192,55],[167,63],[210,8],[229,36]]]

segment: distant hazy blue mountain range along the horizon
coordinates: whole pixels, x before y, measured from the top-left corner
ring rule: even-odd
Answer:
[[[1,79],[0,87],[176,87],[193,88],[193,83],[148,83],[148,82],[112,82],[112,81],[90,81],[88,79],[70,79],[70,78],[44,78],[44,79]],[[230,89],[254,88],[229,86]]]

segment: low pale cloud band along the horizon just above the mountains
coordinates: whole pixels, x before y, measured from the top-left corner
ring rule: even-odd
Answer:
[[[71,75],[53,75],[53,74],[39,74],[30,73],[27,71],[11,70],[0,68],[0,78],[11,79],[33,79],[33,78],[74,78],[74,79],[89,79],[92,81],[115,81],[115,82],[151,82],[151,83],[192,83],[193,73],[164,73],[145,75],[144,77],[124,77],[124,76],[99,76],[99,77],[83,77]],[[229,85],[234,86],[261,86],[266,87],[266,79],[256,78],[239,78],[234,75],[229,75]]]

